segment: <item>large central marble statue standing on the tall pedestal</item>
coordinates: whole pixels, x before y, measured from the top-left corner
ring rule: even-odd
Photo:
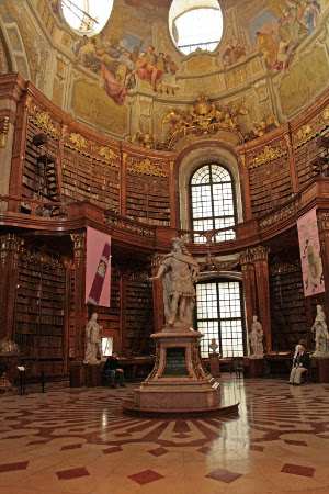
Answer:
[[[157,280],[163,276],[164,316],[167,325],[192,324],[195,289],[200,267],[180,238],[172,238],[173,250],[161,260]]]

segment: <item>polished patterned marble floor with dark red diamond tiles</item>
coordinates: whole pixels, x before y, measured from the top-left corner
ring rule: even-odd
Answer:
[[[134,384],[0,395],[0,493],[329,493],[329,384],[220,383],[237,416],[123,416]]]

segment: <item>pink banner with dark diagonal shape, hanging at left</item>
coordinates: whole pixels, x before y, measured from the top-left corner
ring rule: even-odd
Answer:
[[[86,303],[110,307],[111,236],[87,227]]]

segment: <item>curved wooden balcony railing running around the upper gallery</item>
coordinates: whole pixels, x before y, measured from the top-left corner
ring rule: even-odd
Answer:
[[[168,228],[173,235],[180,236],[184,243],[209,246],[213,244],[223,244],[225,242],[234,243],[237,239],[247,238],[252,233],[259,234],[272,225],[281,223],[305,207],[316,198],[329,193],[329,179],[317,178],[305,186],[303,190],[296,193],[284,204],[276,206],[271,212],[266,212],[250,222],[242,222],[236,225],[227,226],[213,231],[189,231],[181,228]],[[133,235],[157,238],[157,226],[148,225],[137,220],[121,216],[111,210],[103,210],[88,201],[72,201],[70,203],[44,202],[35,199],[18,198],[13,195],[0,195],[0,215],[11,217],[13,214],[29,215],[43,218],[66,220],[87,217],[95,223],[103,224],[110,229],[127,232]],[[250,229],[251,228],[251,229]],[[161,231],[163,227],[161,227]],[[252,231],[252,232],[251,232]],[[177,232],[177,233],[175,233]],[[224,238],[226,233],[228,238]],[[246,232],[246,233],[245,233]],[[222,237],[222,238],[220,238]]]

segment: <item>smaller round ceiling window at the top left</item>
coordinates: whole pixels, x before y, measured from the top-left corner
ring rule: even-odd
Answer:
[[[98,34],[106,24],[113,0],[60,0],[63,15],[76,33]]]

